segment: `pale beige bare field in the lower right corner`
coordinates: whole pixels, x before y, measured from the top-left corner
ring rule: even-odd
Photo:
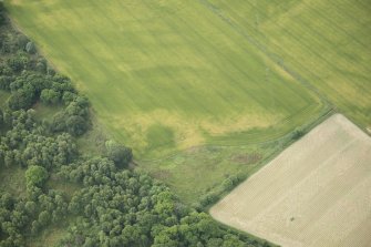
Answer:
[[[210,214],[281,246],[370,246],[371,138],[333,115]]]

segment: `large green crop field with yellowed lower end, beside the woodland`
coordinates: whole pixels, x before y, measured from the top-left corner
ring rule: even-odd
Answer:
[[[153,159],[278,138],[323,104],[202,1],[7,1],[111,134]]]

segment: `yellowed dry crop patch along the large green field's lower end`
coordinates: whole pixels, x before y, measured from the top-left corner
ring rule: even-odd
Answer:
[[[109,119],[110,123],[114,123],[112,126],[116,131],[124,126],[133,143],[135,143],[136,150],[145,148],[148,145],[146,132],[154,124],[161,124],[174,131],[178,150],[186,150],[202,145],[205,142],[205,131],[217,136],[251,128],[262,128],[279,122],[282,115],[244,112],[230,113],[228,117],[213,119],[207,116],[189,117],[177,112],[156,110],[146,114],[117,114],[101,117]]]

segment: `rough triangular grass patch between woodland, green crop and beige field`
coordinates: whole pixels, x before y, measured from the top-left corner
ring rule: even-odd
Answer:
[[[277,143],[239,147],[203,146],[157,162],[141,162],[140,167],[166,181],[184,203],[192,204],[220,186],[226,178],[235,174],[251,174],[277,150]]]

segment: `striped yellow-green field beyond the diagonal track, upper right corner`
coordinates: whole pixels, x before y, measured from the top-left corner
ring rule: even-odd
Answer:
[[[362,128],[371,126],[369,0],[203,2]]]

